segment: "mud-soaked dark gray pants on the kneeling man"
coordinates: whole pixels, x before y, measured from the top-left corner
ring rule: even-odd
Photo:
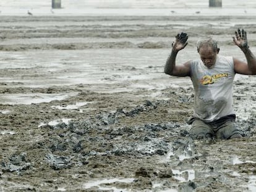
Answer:
[[[244,136],[235,125],[235,119],[222,119],[215,122],[206,123],[200,119],[194,119],[191,123],[190,137],[193,139],[201,138],[221,138],[229,139],[231,136],[239,133]]]

